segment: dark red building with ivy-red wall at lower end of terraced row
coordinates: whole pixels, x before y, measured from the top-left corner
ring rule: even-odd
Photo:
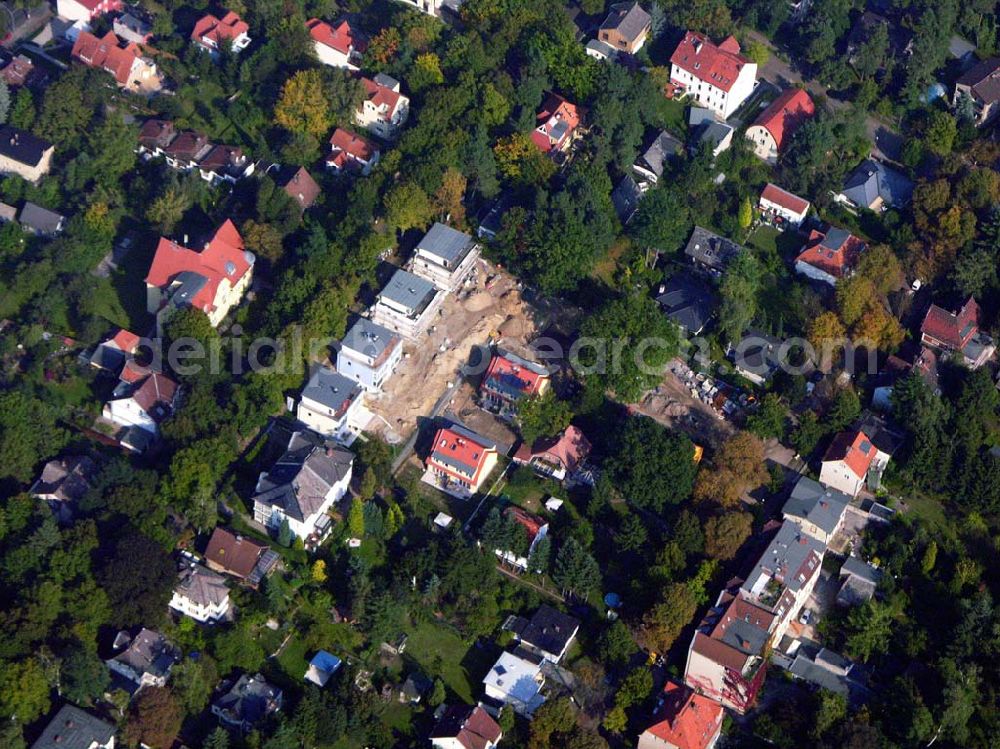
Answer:
[[[684,683],[737,713],[753,705],[767,672],[774,613],[724,590],[691,638]]]

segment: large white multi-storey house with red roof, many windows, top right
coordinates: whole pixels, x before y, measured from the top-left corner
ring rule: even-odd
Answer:
[[[757,64],[740,54],[740,43],[729,36],[714,44],[704,34],[688,31],[670,56],[670,82],[678,94],[728,119],[753,93]]]

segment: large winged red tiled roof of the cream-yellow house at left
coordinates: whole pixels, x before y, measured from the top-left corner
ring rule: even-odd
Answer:
[[[243,238],[236,226],[226,219],[201,252],[160,237],[146,283],[162,289],[184,271],[204,276],[207,282],[190,300],[190,304],[207,314],[214,308],[216,293],[223,279],[235,285],[252,267],[252,257],[245,251]]]

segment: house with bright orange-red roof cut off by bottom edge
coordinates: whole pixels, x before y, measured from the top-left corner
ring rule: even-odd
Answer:
[[[653,715],[656,722],[639,735],[636,749],[712,749],[725,711],[690,687],[668,681]]]

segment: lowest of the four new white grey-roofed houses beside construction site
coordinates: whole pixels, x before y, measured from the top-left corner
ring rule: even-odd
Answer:
[[[350,446],[371,417],[362,406],[363,393],[356,381],[318,366],[302,391],[295,418],[313,431]]]

